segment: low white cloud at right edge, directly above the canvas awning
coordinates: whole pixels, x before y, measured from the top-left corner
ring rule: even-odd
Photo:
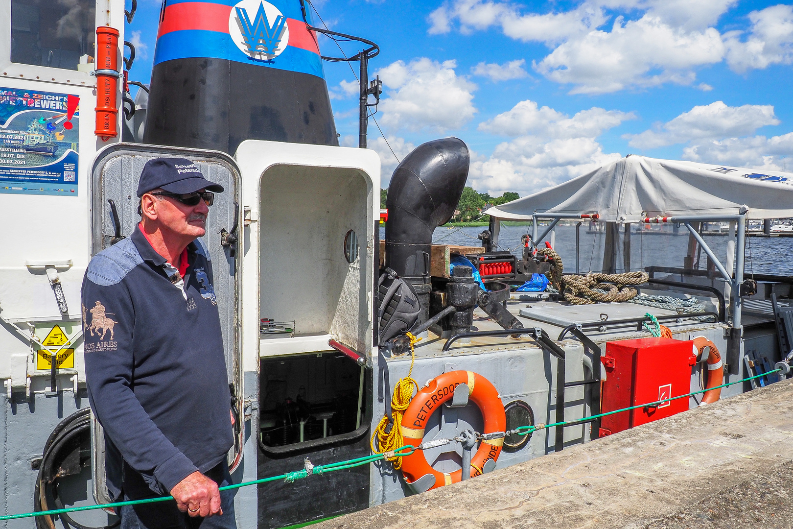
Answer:
[[[783,136],[752,136],[711,140],[683,149],[683,158],[764,171],[793,170],[793,132]]]

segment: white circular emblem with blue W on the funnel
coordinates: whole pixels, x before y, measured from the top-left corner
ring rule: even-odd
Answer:
[[[278,57],[289,44],[286,17],[264,0],[241,0],[228,15],[228,34],[237,48],[251,59]]]

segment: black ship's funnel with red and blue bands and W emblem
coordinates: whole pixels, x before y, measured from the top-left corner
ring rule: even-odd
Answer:
[[[338,145],[300,0],[163,2],[144,143],[234,154],[244,140]]]

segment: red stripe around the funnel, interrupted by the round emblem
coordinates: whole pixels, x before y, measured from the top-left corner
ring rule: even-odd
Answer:
[[[208,2],[181,2],[165,8],[163,21],[159,23],[157,38],[166,33],[183,31],[186,29],[202,29],[228,34],[228,17],[231,15],[232,6],[211,4]],[[287,18],[289,26],[289,46],[302,48],[320,55],[320,47],[316,42],[316,35],[308,31],[304,21]]]

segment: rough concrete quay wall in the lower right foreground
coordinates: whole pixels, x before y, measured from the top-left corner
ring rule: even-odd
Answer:
[[[791,474],[782,381],[314,527],[793,527]]]

